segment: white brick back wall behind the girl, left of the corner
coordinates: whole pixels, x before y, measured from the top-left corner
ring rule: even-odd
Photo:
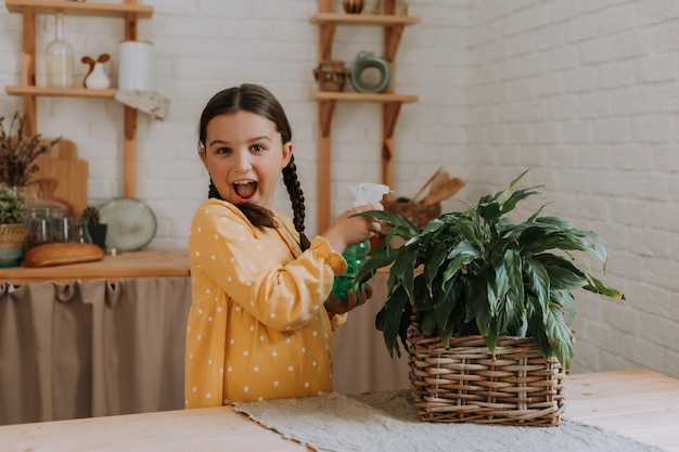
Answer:
[[[107,0],[116,2],[115,0]],[[293,125],[296,162],[307,197],[307,230],[316,231],[317,104],[308,96],[317,88],[318,27],[309,24],[315,0],[278,0],[265,3],[210,0],[142,0],[154,7],[151,20],[139,22],[139,39],[154,42],[155,89],[171,99],[164,121],[139,115],[138,197],[158,219],[151,247],[184,247],[190,218],[207,193],[207,175],[196,156],[196,127],[205,102],[218,90],[245,81],[267,86],[282,101]],[[341,2],[335,1],[341,10]],[[412,195],[448,159],[461,162],[465,135],[466,1],[427,1],[413,5],[421,24],[410,26],[397,54],[397,87],[421,95],[419,104],[405,105],[397,125],[397,184]],[[21,76],[20,14],[0,10],[0,83],[17,85]],[[450,26],[452,25],[452,26]],[[74,46],[77,78],[84,55],[110,53],[106,69],[115,83],[117,42],[123,21],[64,18],[65,37]],[[38,16],[37,49],[43,52],[53,37],[53,18]],[[347,66],[360,50],[380,54],[381,29],[340,27],[333,56]],[[447,55],[458,55],[449,62]],[[115,85],[114,85],[115,86]],[[453,89],[454,88],[454,89]],[[21,109],[20,98],[0,95],[0,112]],[[121,180],[123,107],[112,100],[41,98],[39,132],[61,135],[78,145],[89,162],[91,203],[118,196]],[[376,104],[340,104],[332,126],[332,193],[337,215],[351,203],[348,184],[380,180],[381,107]],[[448,143],[454,144],[454,150]],[[450,151],[448,151],[450,150]],[[282,185],[281,185],[282,186]],[[277,207],[290,210],[284,189]]]

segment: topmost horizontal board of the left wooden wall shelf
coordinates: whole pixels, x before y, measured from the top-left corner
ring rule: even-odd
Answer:
[[[151,18],[153,7],[131,3],[92,3],[87,1],[37,1],[37,0],[4,0],[11,13],[23,13],[28,8],[33,14],[85,15],[99,17],[127,17],[134,14],[137,18]]]

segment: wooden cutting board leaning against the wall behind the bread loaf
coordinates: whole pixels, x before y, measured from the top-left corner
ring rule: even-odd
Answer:
[[[40,197],[42,186],[46,198],[65,204],[68,217],[79,217],[88,201],[88,163],[78,159],[76,144],[62,139],[48,154],[39,156],[36,163],[40,169],[34,175],[34,180],[43,181],[29,188],[29,196]],[[46,179],[54,179],[56,183]]]

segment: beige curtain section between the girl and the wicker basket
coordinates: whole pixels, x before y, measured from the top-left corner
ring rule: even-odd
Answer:
[[[336,392],[362,393],[410,387],[408,354],[401,347],[401,358],[392,358],[382,332],[375,330],[375,315],[386,299],[387,277],[386,273],[373,276],[370,281],[372,298],[349,312],[347,323],[334,333]]]

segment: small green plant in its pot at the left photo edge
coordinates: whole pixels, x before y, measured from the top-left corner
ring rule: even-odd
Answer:
[[[18,267],[25,241],[25,190],[0,183],[0,268]]]

